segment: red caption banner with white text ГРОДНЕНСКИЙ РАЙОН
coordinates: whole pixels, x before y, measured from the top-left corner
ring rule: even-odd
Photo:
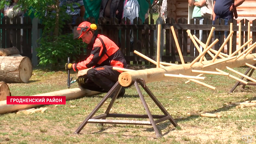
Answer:
[[[66,104],[66,96],[8,96],[6,104]]]

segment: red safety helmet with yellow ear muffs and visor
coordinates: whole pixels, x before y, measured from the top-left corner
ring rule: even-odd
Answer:
[[[88,30],[96,30],[97,26],[88,21],[82,22],[78,27],[74,27],[74,39],[81,38]]]

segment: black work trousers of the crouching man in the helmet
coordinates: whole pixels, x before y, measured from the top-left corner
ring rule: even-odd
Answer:
[[[103,66],[87,71],[85,83],[80,86],[92,91],[109,92],[118,81],[119,72],[113,70],[113,66]]]

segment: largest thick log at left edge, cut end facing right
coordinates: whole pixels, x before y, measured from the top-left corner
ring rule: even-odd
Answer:
[[[27,83],[32,76],[32,63],[28,57],[0,57],[0,81]]]

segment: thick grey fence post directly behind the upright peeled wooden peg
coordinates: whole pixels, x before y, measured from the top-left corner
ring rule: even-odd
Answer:
[[[158,17],[157,20],[156,20],[156,33],[155,33],[155,45],[156,45],[156,50],[155,50],[155,53],[156,53],[156,56],[157,56],[157,33],[158,33],[158,25],[161,25],[161,39],[160,39],[160,61],[162,61],[162,55],[163,55],[163,19],[161,17]],[[156,58],[156,57],[155,57]]]

